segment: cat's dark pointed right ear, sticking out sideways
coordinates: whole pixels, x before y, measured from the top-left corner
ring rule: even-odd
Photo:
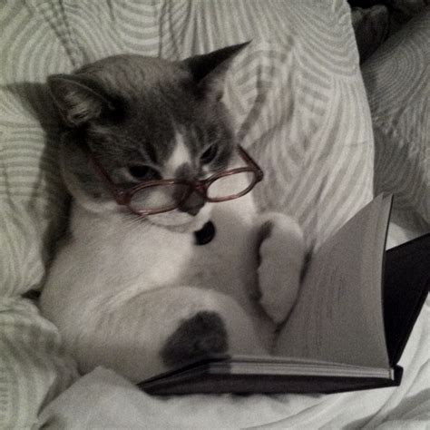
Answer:
[[[250,41],[233,44],[209,54],[195,55],[183,60],[183,63],[191,71],[194,82],[199,85],[202,92],[220,100],[225,74],[232,60],[249,43]]]

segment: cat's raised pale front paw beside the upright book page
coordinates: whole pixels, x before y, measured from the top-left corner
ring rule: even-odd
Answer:
[[[305,259],[303,234],[296,221],[280,213],[264,217],[260,234],[259,303],[279,324],[298,296]]]

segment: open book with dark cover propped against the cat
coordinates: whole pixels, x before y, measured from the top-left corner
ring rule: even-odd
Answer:
[[[430,234],[385,250],[381,194],[312,256],[275,355],[213,356],[151,377],[152,394],[333,393],[396,386],[430,287]]]

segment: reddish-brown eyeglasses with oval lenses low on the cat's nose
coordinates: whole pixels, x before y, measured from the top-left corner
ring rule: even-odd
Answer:
[[[93,153],[93,165],[105,181],[112,196],[119,205],[127,206],[133,213],[145,217],[175,210],[187,200],[192,192],[197,192],[205,201],[220,202],[239,199],[262,181],[264,173],[256,161],[238,145],[239,155],[246,167],[220,171],[201,181],[151,180],[143,181],[131,189],[117,186],[104,170]]]

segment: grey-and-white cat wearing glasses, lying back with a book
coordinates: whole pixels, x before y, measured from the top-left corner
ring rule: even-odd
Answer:
[[[73,201],[40,308],[82,373],[137,382],[211,353],[267,354],[288,317],[298,223],[259,214],[251,191],[213,201],[261,179],[222,103],[245,46],[177,62],[120,54],[48,77]]]

